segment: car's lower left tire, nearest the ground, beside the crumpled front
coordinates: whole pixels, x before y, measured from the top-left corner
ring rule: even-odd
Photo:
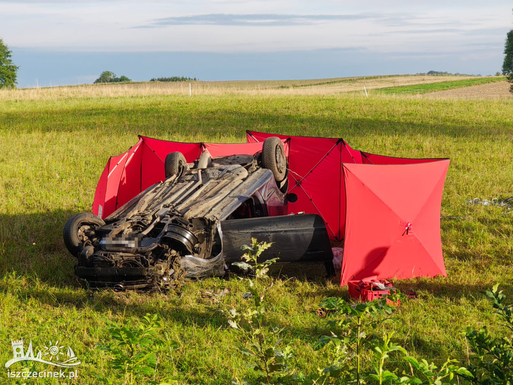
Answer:
[[[79,213],[68,219],[64,225],[63,238],[64,244],[71,255],[78,258],[84,248],[84,243],[93,240],[89,239],[91,232],[104,224],[102,218],[92,213]]]

